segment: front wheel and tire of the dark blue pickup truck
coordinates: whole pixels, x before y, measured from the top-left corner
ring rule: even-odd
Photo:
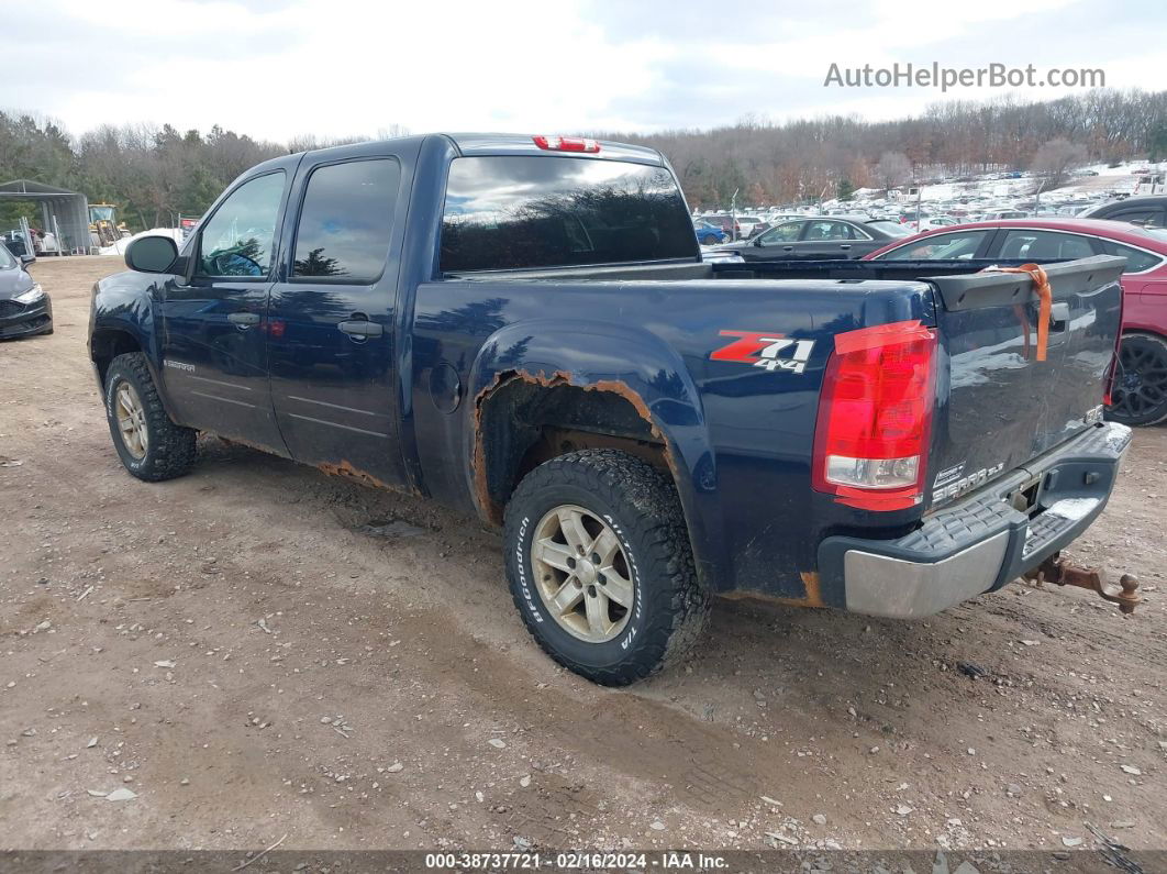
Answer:
[[[141,352],[119,355],[110,363],[105,418],[118,457],[139,480],[173,480],[195,463],[198,434],[170,421]]]

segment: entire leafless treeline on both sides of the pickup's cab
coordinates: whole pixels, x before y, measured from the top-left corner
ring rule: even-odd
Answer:
[[[403,133],[394,126],[377,137]],[[811,202],[941,175],[1159,160],[1167,156],[1167,91],[1099,90],[1048,103],[956,100],[895,121],[747,118],[710,131],[599,135],[659,148],[693,205],[728,205],[734,191],[745,205]],[[259,161],[361,139],[277,144],[218,126],[202,133],[170,125],[105,125],[74,138],[53,121],[0,112],[0,182],[32,179],[83,191],[90,202],[116,204],[120,219],[141,230],[201,215]],[[35,216],[27,204],[0,204],[0,230],[21,211]]]

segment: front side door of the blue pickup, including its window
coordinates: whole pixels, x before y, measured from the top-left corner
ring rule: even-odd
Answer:
[[[161,378],[175,418],[281,454],[264,315],[288,176],[264,173],[219,202],[186,250],[193,268],[166,285],[161,306]]]

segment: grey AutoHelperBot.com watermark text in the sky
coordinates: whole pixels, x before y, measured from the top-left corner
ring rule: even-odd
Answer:
[[[1105,88],[1106,71],[1099,68],[1050,67],[1033,64],[1009,67],[942,67],[896,62],[890,67],[840,67],[832,63],[824,88]]]

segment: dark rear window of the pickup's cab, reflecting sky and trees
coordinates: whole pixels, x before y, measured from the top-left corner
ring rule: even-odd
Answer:
[[[624,161],[457,158],[442,215],[441,270],[522,270],[696,258],[672,174]]]

